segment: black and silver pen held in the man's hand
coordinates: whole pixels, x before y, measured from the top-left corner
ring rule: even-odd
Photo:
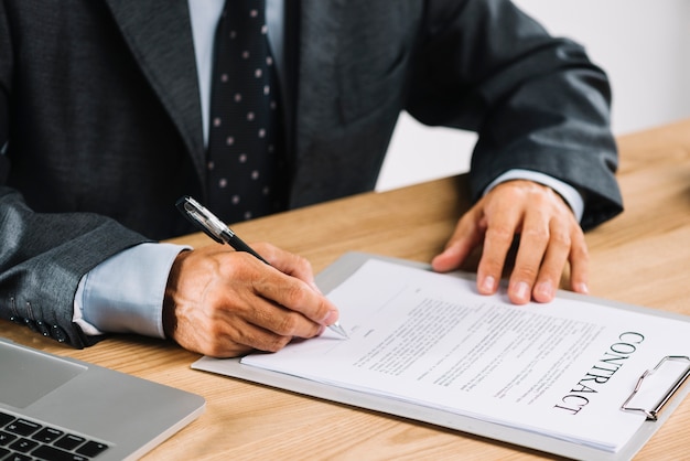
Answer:
[[[219,244],[228,244],[237,251],[246,251],[257,259],[269,264],[266,259],[261,257],[257,251],[255,251],[249,245],[247,245],[237,234],[233,232],[220,221],[216,215],[211,213],[206,207],[204,207],[201,203],[195,201],[188,195],[185,195],[177,200],[175,203],[180,213],[182,213],[187,219],[190,219],[195,226],[204,230],[204,233],[216,240]],[[269,265],[270,266],[270,265]],[[339,322],[335,322],[328,325],[331,330],[339,334],[341,336],[348,337],[347,333],[341,326]]]

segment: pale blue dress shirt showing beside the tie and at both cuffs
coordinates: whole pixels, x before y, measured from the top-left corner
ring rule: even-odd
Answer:
[[[204,143],[208,140],[211,72],[216,24],[225,0],[188,0],[202,107]],[[282,37],[283,0],[267,0],[266,20],[279,77],[284,77]],[[542,173],[511,170],[497,178],[485,193],[500,182],[528,179],[556,190],[571,206],[578,221],[583,201],[575,189]],[[171,244],[141,244],[105,260],[79,281],[73,320],[86,334],[138,333],[164,337],[162,305],[168,276],[175,257],[188,248]]]

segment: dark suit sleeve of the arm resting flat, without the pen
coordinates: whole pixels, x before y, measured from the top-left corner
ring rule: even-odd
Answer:
[[[584,228],[622,212],[611,87],[581,45],[506,0],[430,0],[422,35],[407,109],[479,135],[475,200],[506,171],[531,170],[582,194]]]

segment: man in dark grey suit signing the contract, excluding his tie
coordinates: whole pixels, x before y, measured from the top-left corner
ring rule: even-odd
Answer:
[[[239,0],[238,0],[239,1]],[[223,0],[0,2],[0,315],[83,347],[106,332],[230,356],[335,322],[309,264],[158,244],[208,197],[208,56]],[[258,2],[262,3],[262,2]],[[400,110],[475,130],[476,204],[432,265],[483,245],[477,289],[549,301],[583,229],[622,211],[605,74],[506,0],[268,0],[284,206],[371,190]],[[260,281],[260,282],[259,282]]]

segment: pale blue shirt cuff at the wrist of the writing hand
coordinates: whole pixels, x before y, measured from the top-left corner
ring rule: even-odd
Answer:
[[[106,259],[79,280],[73,321],[88,335],[137,333],[164,339],[165,286],[184,249],[190,247],[148,243]]]

